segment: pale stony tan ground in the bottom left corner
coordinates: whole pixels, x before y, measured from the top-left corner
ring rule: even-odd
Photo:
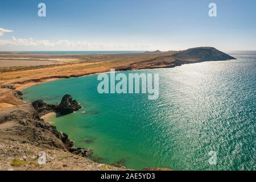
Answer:
[[[31,143],[22,143],[19,140],[3,137],[0,130],[0,171],[13,170],[120,170],[107,164],[94,163],[89,159],[73,155],[63,150],[36,147]],[[46,152],[46,165],[38,164],[38,152]]]

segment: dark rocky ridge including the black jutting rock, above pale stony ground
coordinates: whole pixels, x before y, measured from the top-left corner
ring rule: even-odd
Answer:
[[[72,101],[70,95],[63,97],[63,102],[59,106],[71,109],[78,109],[81,106],[78,102]],[[58,105],[48,105],[42,100],[32,103],[10,107],[0,111],[0,124],[14,121],[19,123],[15,129],[10,130],[15,135],[22,137],[29,143],[35,144],[38,147],[46,148],[61,148],[69,151],[72,154],[80,156],[89,156],[92,151],[86,148],[75,148],[72,140],[68,135],[57,131],[55,126],[44,122],[40,117],[44,114],[56,111]],[[71,111],[71,109],[69,109]]]

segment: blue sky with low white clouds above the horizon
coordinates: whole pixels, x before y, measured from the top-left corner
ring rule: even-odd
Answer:
[[[38,16],[40,2],[46,3],[46,17]],[[211,2],[217,5],[217,17],[208,15]],[[256,50],[256,1],[0,1],[0,51],[167,51],[199,46]]]

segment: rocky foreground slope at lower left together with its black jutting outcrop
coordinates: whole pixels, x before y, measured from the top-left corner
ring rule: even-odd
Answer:
[[[122,169],[86,159],[92,151],[74,147],[67,134],[41,119],[47,113],[64,115],[79,109],[81,105],[66,94],[59,105],[38,100],[0,110],[0,170]],[[46,151],[46,165],[38,165],[38,151]]]

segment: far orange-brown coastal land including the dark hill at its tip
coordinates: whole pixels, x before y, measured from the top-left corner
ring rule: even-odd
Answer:
[[[202,59],[200,51],[210,54],[208,60]],[[205,52],[204,52],[205,53]],[[22,90],[42,82],[58,80],[60,78],[80,77],[95,73],[127,71],[137,69],[173,68],[182,64],[200,63],[201,61],[234,59],[215,48],[201,47],[184,51],[154,51],[143,53],[113,53],[113,54],[73,54],[47,55],[24,53],[0,53],[0,59],[15,59],[19,61],[34,59],[36,66],[1,67],[0,63],[0,109],[24,102],[15,97],[15,91],[3,88],[5,85],[15,86],[15,90]],[[40,65],[40,60],[59,60],[64,64]]]

